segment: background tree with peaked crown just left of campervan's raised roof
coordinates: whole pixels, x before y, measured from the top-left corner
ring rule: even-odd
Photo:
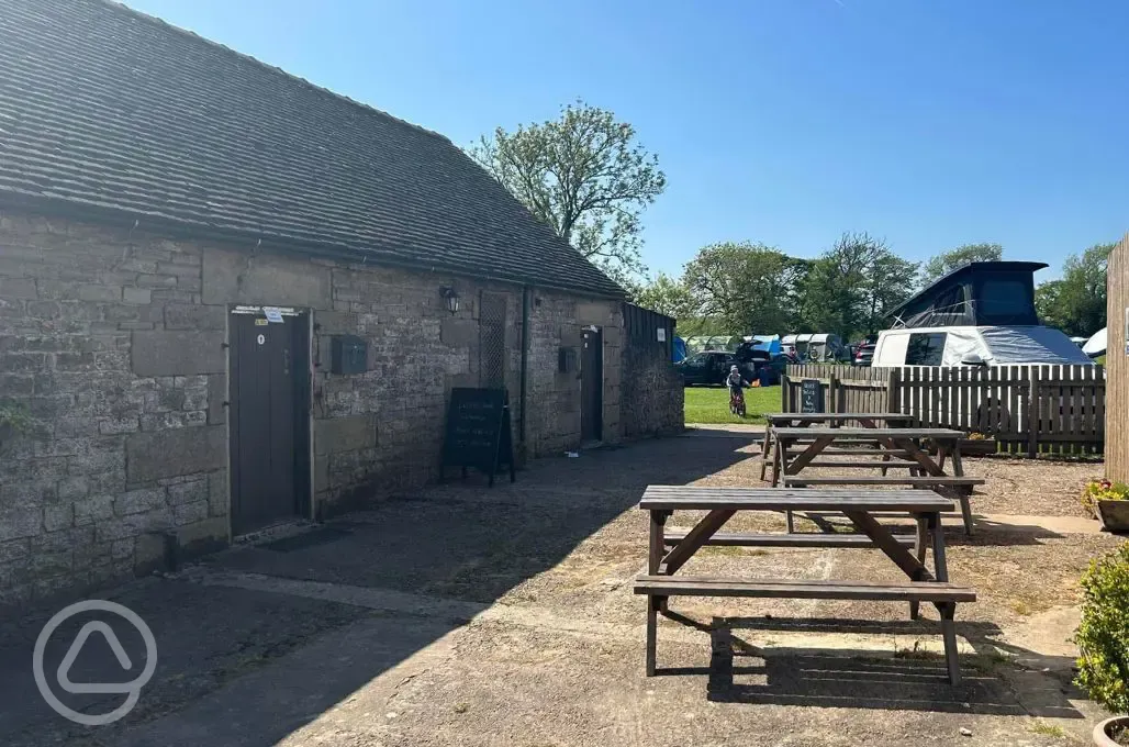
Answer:
[[[913,294],[918,266],[867,233],[844,233],[811,267],[804,322],[850,338],[883,329],[886,313]]]

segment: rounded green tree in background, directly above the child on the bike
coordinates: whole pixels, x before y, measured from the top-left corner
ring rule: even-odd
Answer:
[[[703,247],[683,281],[703,316],[730,333],[774,333],[798,321],[807,262],[763,244],[725,242]]]

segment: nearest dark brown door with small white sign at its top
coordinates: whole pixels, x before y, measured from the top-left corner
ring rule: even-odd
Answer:
[[[308,316],[231,314],[231,531],[305,515],[309,493]]]

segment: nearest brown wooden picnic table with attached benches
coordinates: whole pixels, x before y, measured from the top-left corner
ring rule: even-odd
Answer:
[[[858,599],[910,602],[916,618],[921,602],[936,606],[945,642],[948,678],[960,683],[954,617],[956,603],[975,601],[975,591],[948,582],[945,536],[940,512],[952,502],[928,490],[829,490],[788,488],[711,488],[651,485],[639,507],[650,513],[650,545],[647,572],[634,582],[634,593],[647,597],[647,676],[656,674],[658,614],[666,614],[673,596],[759,597],[790,599]],[[858,533],[719,533],[718,530],[738,511],[835,511],[847,514]],[[666,531],[667,518],[675,511],[707,511],[704,518],[686,531]],[[905,538],[894,537],[878,523],[875,513],[905,512],[917,520],[912,549]],[[934,570],[925,564],[926,547],[933,546]],[[908,581],[809,579],[723,579],[676,575],[694,554],[707,545],[744,547],[877,547],[898,566]],[[667,549],[669,548],[669,549]]]

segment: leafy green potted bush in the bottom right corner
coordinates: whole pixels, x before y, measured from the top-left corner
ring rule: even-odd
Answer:
[[[1121,714],[1094,728],[1094,744],[1129,745],[1129,542],[1093,561],[1082,576],[1082,590],[1075,681],[1095,702]]]

